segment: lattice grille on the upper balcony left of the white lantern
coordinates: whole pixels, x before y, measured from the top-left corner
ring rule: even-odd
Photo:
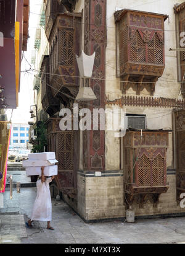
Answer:
[[[75,52],[74,30],[60,30],[59,35],[60,65],[73,65]]]

